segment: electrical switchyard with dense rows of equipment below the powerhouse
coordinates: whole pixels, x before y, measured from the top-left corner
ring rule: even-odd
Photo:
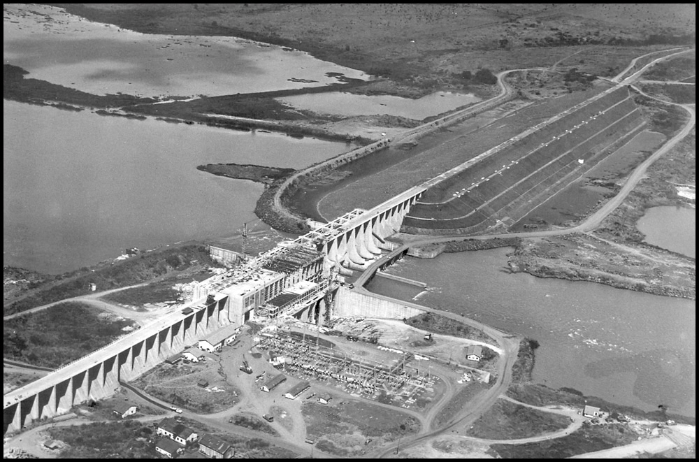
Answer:
[[[377,344],[380,334],[367,343],[352,334],[335,337],[291,329],[266,329],[253,338],[257,342],[253,351],[264,353],[283,375],[296,377],[301,384],[322,384],[355,398],[424,410],[444,392],[445,374],[448,380],[461,380],[459,383],[489,382],[490,374],[477,368],[458,368],[455,362],[449,370],[445,361],[435,357]],[[426,344],[433,341],[432,334],[422,335]],[[257,380],[263,391],[268,391],[265,388],[270,384],[276,387],[281,383],[277,377],[273,377],[275,381],[262,374]]]

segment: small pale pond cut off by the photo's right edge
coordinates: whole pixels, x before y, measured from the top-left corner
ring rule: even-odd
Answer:
[[[649,208],[636,227],[646,235],[644,242],[696,258],[696,208],[672,205]]]

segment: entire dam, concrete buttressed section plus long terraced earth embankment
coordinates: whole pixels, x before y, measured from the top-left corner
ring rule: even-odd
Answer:
[[[355,209],[329,223],[313,223],[305,235],[199,283],[193,301],[182,311],[5,394],[3,433],[69,412],[75,404],[111,396],[120,382],[143,375],[185,345],[226,326],[242,326],[253,316],[289,315],[320,325],[333,315],[356,310],[373,317],[415,315],[419,305],[342,287],[342,276],[402,255],[405,246],[388,240],[401,229],[507,229],[513,203],[524,198],[518,207],[535,206],[640,125],[628,89],[617,85],[370,210]],[[605,126],[613,127],[612,132]],[[503,159],[503,167],[487,178],[480,173]],[[514,168],[520,162],[526,168]],[[478,175],[480,180],[472,181]],[[468,194],[473,200],[466,200]],[[368,276],[362,275],[365,280]]]

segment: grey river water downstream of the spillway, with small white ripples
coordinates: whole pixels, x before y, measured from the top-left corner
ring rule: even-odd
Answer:
[[[535,382],[642,410],[664,404],[696,414],[695,301],[510,274],[508,252],[408,257],[387,269],[428,284],[415,298],[412,288],[382,277],[368,288],[538,340]]]

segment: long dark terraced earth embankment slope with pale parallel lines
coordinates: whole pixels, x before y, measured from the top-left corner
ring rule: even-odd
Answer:
[[[609,89],[426,182],[402,229],[449,234],[509,227],[644,123],[627,87]]]

